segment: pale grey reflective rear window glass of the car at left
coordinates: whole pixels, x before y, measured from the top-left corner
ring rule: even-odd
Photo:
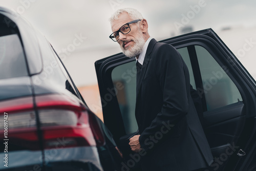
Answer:
[[[0,79],[26,75],[25,55],[18,35],[0,36]]]

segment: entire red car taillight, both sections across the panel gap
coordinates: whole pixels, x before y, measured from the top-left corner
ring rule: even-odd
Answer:
[[[33,110],[33,105],[31,105],[32,100],[27,100],[26,103],[23,102],[23,104],[19,103],[18,107],[2,108],[2,111],[9,111],[9,143],[12,143],[16,148],[39,149],[39,132],[42,135],[43,145],[46,149],[95,146],[104,143],[100,127],[93,114],[89,114],[73,97],[64,95],[36,97],[36,112],[40,120],[39,132],[37,130],[36,113]],[[15,105],[15,103],[12,103],[12,105]],[[2,130],[4,126],[1,123],[0,132],[4,132]]]

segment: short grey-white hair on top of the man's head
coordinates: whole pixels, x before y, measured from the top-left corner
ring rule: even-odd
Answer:
[[[124,13],[127,12],[129,14],[129,16],[135,20],[135,19],[143,19],[141,13],[133,8],[123,8],[123,9],[119,9],[117,10],[114,14],[112,14],[112,16],[110,17],[110,23],[112,23],[114,20],[118,19],[118,17]]]

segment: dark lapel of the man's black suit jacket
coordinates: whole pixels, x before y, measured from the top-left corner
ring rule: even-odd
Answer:
[[[146,70],[147,70],[148,63],[150,63],[150,58],[151,58],[150,54],[151,54],[151,52],[152,52],[156,43],[157,43],[157,40],[153,38],[150,41],[150,44],[148,44],[146,54],[145,54],[145,58],[144,58],[144,61],[143,61],[143,65],[142,65],[142,68],[141,68],[140,78],[138,79],[139,82],[137,83],[137,87],[136,87],[137,98],[138,98],[138,95],[139,95],[139,92],[140,92],[140,89],[141,89],[142,80],[143,80],[144,75],[145,75]]]

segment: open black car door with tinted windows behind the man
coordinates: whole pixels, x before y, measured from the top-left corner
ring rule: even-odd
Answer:
[[[201,119],[214,163],[209,170],[256,169],[256,83],[217,34],[206,29],[163,40],[189,69],[203,104]],[[137,134],[135,58],[119,53],[95,62],[105,125],[136,170],[139,159],[123,145]],[[154,92],[152,92],[154,93]],[[130,162],[129,162],[130,161]]]

